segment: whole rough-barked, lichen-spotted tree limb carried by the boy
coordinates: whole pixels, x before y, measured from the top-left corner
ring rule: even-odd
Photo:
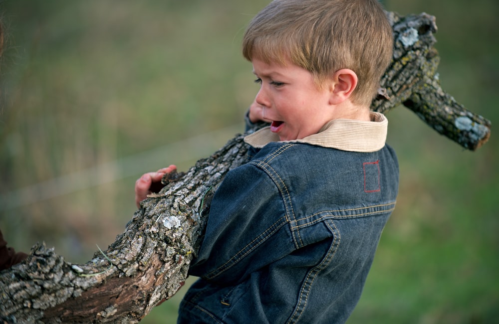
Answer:
[[[435,17],[388,12],[395,50],[372,110],[400,104],[439,133],[476,150],[491,123],[467,111],[440,87],[433,47]],[[71,264],[37,244],[22,263],[0,273],[0,318],[6,323],[137,323],[187,278],[203,238],[210,201],[225,174],[246,160],[237,135],[187,173],[144,200],[124,233],[85,264]]]

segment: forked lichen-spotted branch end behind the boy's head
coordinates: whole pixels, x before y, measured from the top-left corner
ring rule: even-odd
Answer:
[[[492,124],[442,90],[437,73],[440,57],[434,48],[435,17],[427,13],[387,15],[395,41],[393,61],[381,79],[384,90],[373,101],[372,110],[384,113],[403,104],[462,147],[480,148],[489,140]]]

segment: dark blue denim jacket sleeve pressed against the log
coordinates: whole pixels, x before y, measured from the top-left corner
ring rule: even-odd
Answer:
[[[265,172],[244,164],[231,170],[215,193],[189,273],[238,282],[294,249],[279,190]]]

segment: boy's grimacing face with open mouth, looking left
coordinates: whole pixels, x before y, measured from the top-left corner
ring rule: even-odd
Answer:
[[[270,130],[280,141],[316,134],[334,119],[330,87],[319,89],[312,73],[290,63],[282,66],[258,59],[251,63],[260,83],[256,103],[262,107],[263,118],[272,122]]]

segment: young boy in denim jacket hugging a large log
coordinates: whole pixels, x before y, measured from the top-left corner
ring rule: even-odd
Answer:
[[[370,112],[392,57],[377,0],[274,0],[243,54],[260,90],[249,161],[211,202],[179,323],[344,323],[395,206],[387,120]],[[163,172],[136,183],[136,199]]]

